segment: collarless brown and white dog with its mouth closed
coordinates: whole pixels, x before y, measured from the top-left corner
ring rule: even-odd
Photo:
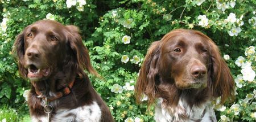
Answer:
[[[234,93],[234,81],[218,47],[199,31],[176,29],[147,51],[135,94],[155,101],[155,120],[217,121],[211,104]]]

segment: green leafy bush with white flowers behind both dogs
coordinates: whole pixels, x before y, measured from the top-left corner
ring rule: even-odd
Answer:
[[[0,106],[16,109],[18,115],[12,116],[28,115],[23,93],[30,86],[19,77],[11,54],[15,36],[37,20],[54,19],[81,29],[93,67],[104,78],[91,77],[92,84],[116,121],[154,120],[153,108],[147,111],[146,104],[135,103],[133,87],[150,43],[176,28],[196,29],[212,38],[236,79],[235,101],[215,105],[218,120],[256,120],[256,1],[88,0],[75,6],[69,0],[0,2]],[[0,119],[9,121],[7,117],[1,114]]]

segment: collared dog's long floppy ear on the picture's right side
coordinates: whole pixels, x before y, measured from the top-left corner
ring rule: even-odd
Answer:
[[[76,56],[76,63],[78,64],[78,67],[82,70],[86,69],[89,73],[100,77],[97,71],[90,64],[90,56],[87,48],[82,43],[79,29],[74,25],[67,25],[66,27],[71,33],[71,35],[68,36],[68,43]],[[83,71],[81,71],[79,75],[82,75],[82,72]]]

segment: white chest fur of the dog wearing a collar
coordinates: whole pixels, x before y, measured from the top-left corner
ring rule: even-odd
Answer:
[[[98,122],[101,120],[101,109],[96,102],[89,106],[81,106],[75,109],[59,109],[55,115],[52,115],[51,122],[55,121],[88,121]],[[47,116],[31,117],[31,121],[47,122]]]

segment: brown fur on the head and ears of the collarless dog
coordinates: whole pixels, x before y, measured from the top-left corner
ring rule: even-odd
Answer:
[[[174,52],[175,47],[179,47],[181,53]],[[192,68],[197,66],[207,69],[207,74],[200,79],[191,75]],[[205,81],[207,85],[192,88],[193,84],[188,82],[191,79]],[[233,77],[218,47],[205,34],[186,29],[171,31],[152,43],[135,86],[137,102],[146,94],[149,105],[161,97],[164,103],[176,106],[181,94],[191,106],[220,96],[224,103],[233,93]]]

